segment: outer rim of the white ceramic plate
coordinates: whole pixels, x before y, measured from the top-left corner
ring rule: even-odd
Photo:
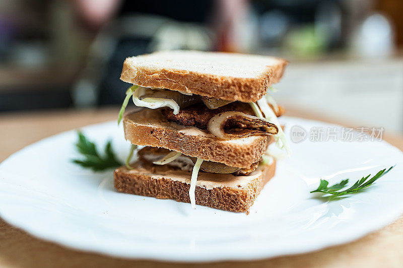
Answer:
[[[303,120],[305,122],[309,122],[309,123],[319,123],[319,124],[327,124],[329,126],[339,126],[342,127],[342,125],[339,124],[333,124],[333,123],[329,123],[326,121],[320,121],[320,120],[312,120],[312,119],[306,119],[306,118],[301,118],[301,117],[295,117],[295,116],[284,116],[284,118],[286,119],[291,119],[291,120]],[[18,150],[17,152],[14,152],[13,154],[11,154],[7,159],[5,159],[4,161],[2,161],[0,163],[0,172],[2,171],[2,167],[5,163],[13,160],[15,157],[18,157],[19,154],[24,153],[26,150],[29,150],[31,147],[33,146],[37,146],[38,144],[47,142],[48,140],[53,140],[53,139],[57,139],[62,135],[69,135],[69,133],[73,132],[73,131],[77,131],[78,129],[85,129],[85,128],[90,128],[90,127],[99,127],[103,124],[107,125],[107,124],[111,124],[111,122],[115,122],[115,120],[109,120],[109,121],[105,121],[105,122],[100,122],[100,123],[95,123],[95,124],[89,124],[89,125],[85,125],[79,128],[74,128],[74,129],[70,129],[70,130],[66,130],[66,131],[61,131],[56,133],[55,135],[52,136],[48,136],[45,137],[37,142],[34,142],[20,150]],[[388,146],[389,148],[393,149],[393,150],[397,150],[400,154],[403,155],[403,152],[398,149],[397,147],[395,147],[394,145],[382,140],[382,143],[385,146]],[[1,179],[1,178],[0,178]],[[394,220],[398,219],[398,217],[401,215],[401,213],[403,212],[403,203],[401,204],[396,204],[396,207],[398,207],[398,209],[395,209],[394,211],[399,210],[399,213],[389,213],[388,217],[384,216],[383,218],[377,217],[374,219],[374,221],[370,221],[369,223],[372,224],[367,224],[370,225],[371,227],[367,227],[367,231],[364,233],[359,233],[354,235],[350,235],[348,237],[344,237],[343,239],[341,239],[340,237],[338,239],[328,239],[327,243],[307,243],[306,246],[302,249],[294,249],[294,250],[288,250],[290,252],[286,252],[286,253],[282,253],[282,254],[276,254],[276,253],[272,253],[272,254],[268,254],[265,253],[263,251],[259,251],[259,252],[253,252],[251,253],[250,251],[247,251],[248,253],[246,254],[238,254],[238,255],[231,255],[231,254],[225,254],[223,255],[222,252],[220,254],[215,254],[215,255],[210,255],[208,257],[208,259],[206,259],[203,255],[200,256],[195,256],[195,255],[190,255],[190,256],[183,256],[181,258],[177,258],[177,255],[171,255],[169,256],[168,254],[165,254],[164,256],[156,256],[155,254],[150,254],[147,253],[145,254],[144,251],[139,252],[138,254],[125,254],[122,252],[111,252],[110,250],[107,250],[105,248],[97,248],[97,249],[89,249],[88,247],[86,247],[85,244],[79,245],[78,243],[72,243],[72,242],[66,242],[66,241],[62,241],[61,239],[57,239],[57,237],[52,237],[46,234],[38,234],[38,230],[34,230],[35,228],[30,228],[29,224],[24,224],[23,222],[18,222],[18,220],[13,219],[12,216],[10,215],[5,215],[2,212],[2,209],[0,207],[0,217],[7,222],[8,224],[12,225],[13,227],[16,227],[20,230],[23,230],[24,232],[26,232],[27,234],[29,234],[30,236],[33,236],[35,238],[38,238],[40,240],[44,240],[46,242],[50,242],[50,243],[55,243],[59,246],[68,248],[68,249],[72,249],[72,250],[78,250],[80,252],[84,252],[84,253],[100,253],[100,254],[104,254],[110,257],[119,257],[119,258],[123,258],[123,259],[137,259],[137,260],[154,260],[154,261],[167,261],[167,262],[179,262],[179,263],[184,263],[184,262],[216,262],[216,261],[231,261],[231,260],[236,260],[236,261],[251,261],[251,260],[260,260],[260,259],[267,259],[267,258],[272,258],[272,257],[278,257],[278,256],[287,256],[287,255],[295,255],[295,254],[303,254],[303,253],[308,253],[308,252],[312,252],[312,251],[317,251],[320,249],[324,249],[324,248],[328,248],[328,247],[332,247],[332,246],[338,246],[338,245],[342,245],[342,244],[346,244],[352,241],[355,241],[359,238],[362,238],[370,233],[373,233],[381,228],[383,228],[384,226],[389,225],[390,223],[392,223]],[[392,215],[393,214],[393,215]],[[9,217],[10,216],[10,217]],[[40,232],[39,232],[40,233]]]

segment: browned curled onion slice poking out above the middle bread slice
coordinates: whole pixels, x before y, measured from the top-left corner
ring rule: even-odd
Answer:
[[[232,140],[252,135],[275,135],[279,128],[256,116],[242,112],[230,111],[213,116],[207,124],[207,129],[217,138]]]

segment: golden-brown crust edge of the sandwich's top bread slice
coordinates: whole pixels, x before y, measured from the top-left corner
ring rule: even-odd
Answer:
[[[166,88],[242,102],[255,102],[263,97],[267,87],[280,81],[287,65],[286,60],[277,58],[276,64],[265,66],[256,77],[242,78],[174,68],[150,68],[137,64],[135,58],[125,59],[120,75],[122,81],[143,87]]]

